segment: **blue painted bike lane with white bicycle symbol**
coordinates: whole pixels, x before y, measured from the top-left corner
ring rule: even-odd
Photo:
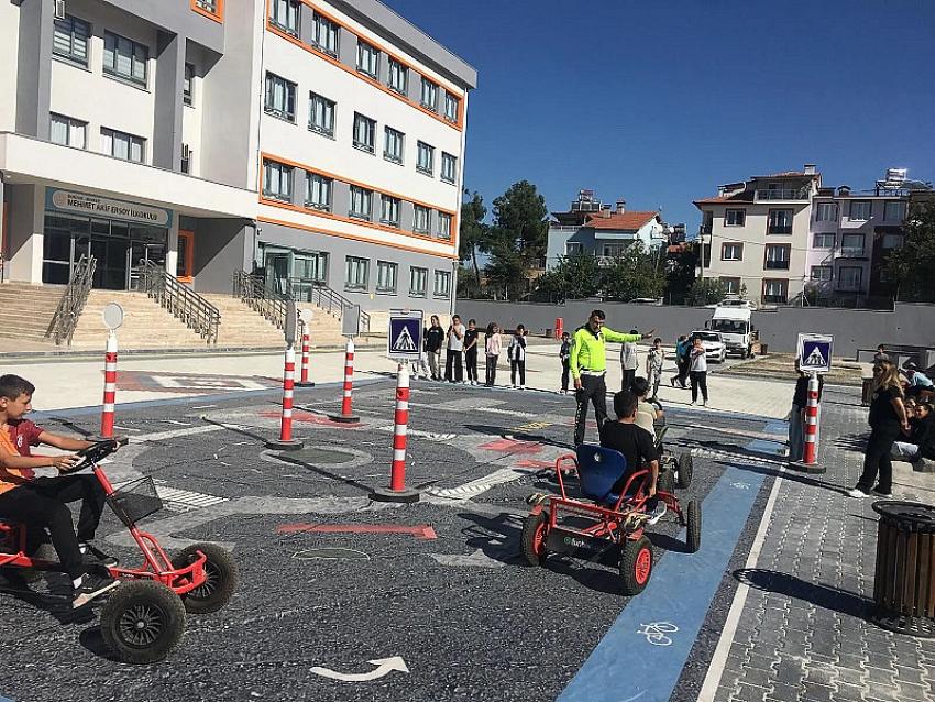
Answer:
[[[769,421],[765,431],[777,440],[757,439],[745,448],[772,452],[785,428],[784,421]],[[626,605],[559,702],[672,696],[765,480],[762,472],[728,465],[702,505],[701,549],[662,559],[647,591]]]

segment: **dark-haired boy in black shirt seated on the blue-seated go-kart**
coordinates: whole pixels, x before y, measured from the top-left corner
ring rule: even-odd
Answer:
[[[656,496],[659,454],[656,452],[652,435],[636,424],[638,404],[639,398],[630,391],[622,391],[614,395],[614,412],[617,420],[604,423],[601,428],[601,446],[619,451],[627,460],[626,472],[614,484],[615,493],[619,493],[626,486],[627,479],[634,472],[644,468],[649,469],[647,486],[649,500],[646,502],[646,507],[649,524],[656,524],[666,514],[666,503]]]

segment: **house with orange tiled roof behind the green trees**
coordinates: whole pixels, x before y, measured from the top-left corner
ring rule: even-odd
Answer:
[[[628,211],[623,199],[612,209],[593,190],[581,190],[566,212],[552,212],[552,217],[546,254],[549,270],[575,253],[595,255],[608,265],[637,241],[646,251],[654,251],[669,243],[672,231],[658,211]]]

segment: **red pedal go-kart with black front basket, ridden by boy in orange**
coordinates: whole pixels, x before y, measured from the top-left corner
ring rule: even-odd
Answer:
[[[150,476],[114,490],[99,463],[116,450],[116,441],[84,449],[78,452],[84,461],[74,470],[92,467],[108,504],[143,552],[139,569],[107,568],[121,584],[106,595],[100,613],[101,635],[118,660],[150,663],[168,656],[182,639],[186,612],[217,612],[230,601],[237,589],[238,569],[230,553],[215,544],[189,546],[169,559],[153,535],[141,531],[136,522],[161,509],[162,501]],[[56,561],[26,555],[26,536],[24,525],[0,522],[3,574],[28,582],[35,571],[61,570]]]

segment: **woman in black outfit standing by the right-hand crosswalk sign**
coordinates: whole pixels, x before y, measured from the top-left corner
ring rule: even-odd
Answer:
[[[877,472],[880,482],[873,492],[891,497],[893,492],[893,464],[890,456],[900,431],[909,431],[909,419],[903,405],[903,390],[897,366],[890,361],[880,361],[873,366],[873,395],[870,403],[870,438],[864,458],[864,474],[857,486],[848,494],[851,497],[867,497]]]

